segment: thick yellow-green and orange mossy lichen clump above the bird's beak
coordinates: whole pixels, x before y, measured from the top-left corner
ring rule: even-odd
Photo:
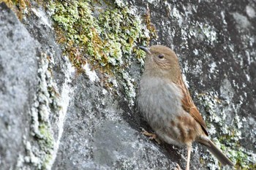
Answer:
[[[137,43],[146,45],[149,39],[136,9],[120,1],[111,5],[89,0],[50,1],[48,10],[61,28],[61,36],[65,36],[62,43],[78,69],[85,61],[121,67],[132,55],[132,48]],[[76,50],[70,50],[73,47]],[[79,57],[74,54],[77,52]]]

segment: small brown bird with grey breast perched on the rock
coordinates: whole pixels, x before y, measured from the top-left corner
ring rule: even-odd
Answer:
[[[210,150],[223,166],[233,166],[208,138],[206,123],[184,84],[173,50],[162,45],[140,49],[147,56],[139,85],[138,107],[157,137],[168,144],[187,146],[187,170],[195,141]]]

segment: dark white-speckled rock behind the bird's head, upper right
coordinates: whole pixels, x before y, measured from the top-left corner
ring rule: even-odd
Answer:
[[[139,6],[143,9],[146,4]],[[227,117],[237,113],[246,118],[241,143],[255,150],[255,1],[148,4],[151,22],[159,32],[159,39],[152,44],[167,45],[176,51],[192,96],[214,89],[221,100],[230,104]],[[199,102],[197,105],[200,107]]]

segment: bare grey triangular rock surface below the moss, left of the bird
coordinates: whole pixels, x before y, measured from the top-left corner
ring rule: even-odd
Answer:
[[[170,169],[173,162],[132,128],[118,97],[85,75],[75,81],[53,169]],[[91,101],[95,98],[95,101]],[[68,142],[68,143],[66,143]]]

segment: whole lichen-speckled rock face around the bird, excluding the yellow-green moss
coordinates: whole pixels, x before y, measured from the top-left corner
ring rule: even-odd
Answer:
[[[237,169],[255,169],[255,1],[111,3],[94,4],[91,17],[124,6],[140,20],[150,14],[158,35],[151,45],[176,51],[211,138]],[[176,163],[184,169],[183,147],[157,144],[140,133],[140,127],[151,128],[131,97],[143,71],[135,54],[114,75],[89,62],[77,72],[64,53],[67,45],[56,42],[64,26],[56,24],[60,16],[51,17],[57,7],[51,9],[33,2],[20,22],[0,5],[0,169],[174,169]],[[194,144],[191,169],[221,167]]]

